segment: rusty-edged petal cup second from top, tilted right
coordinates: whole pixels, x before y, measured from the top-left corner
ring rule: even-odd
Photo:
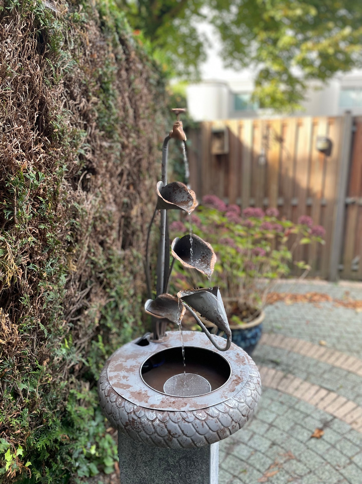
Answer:
[[[192,240],[192,245],[191,245]],[[180,260],[181,264],[191,269],[197,269],[206,275],[211,275],[216,262],[216,255],[211,245],[197,235],[187,234],[176,237],[171,244],[172,255]]]

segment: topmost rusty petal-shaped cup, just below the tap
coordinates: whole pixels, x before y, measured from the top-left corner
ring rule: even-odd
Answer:
[[[180,181],[173,181],[164,185],[157,183],[157,209],[184,210],[191,213],[197,207],[196,195]]]

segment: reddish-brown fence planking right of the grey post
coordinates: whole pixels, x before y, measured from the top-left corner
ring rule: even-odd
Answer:
[[[356,120],[356,131],[353,139],[351,167],[349,173],[348,198],[351,203],[346,208],[346,231],[343,254],[343,272],[342,277],[356,278],[357,273],[352,272],[352,260],[360,256],[359,269],[362,266],[362,248],[359,254],[359,247],[362,240],[358,240],[358,212],[361,210],[358,204],[358,198],[362,195],[362,119]],[[362,273],[362,271],[361,271]]]

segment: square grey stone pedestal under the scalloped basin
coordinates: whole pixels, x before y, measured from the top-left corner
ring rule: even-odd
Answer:
[[[121,484],[217,484],[219,442],[197,449],[164,449],[118,432]]]

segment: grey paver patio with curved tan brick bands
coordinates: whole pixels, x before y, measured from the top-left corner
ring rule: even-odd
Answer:
[[[292,291],[362,300],[358,283]],[[252,421],[220,443],[219,484],[362,484],[362,313],[334,302],[270,305],[253,359],[263,394]]]

